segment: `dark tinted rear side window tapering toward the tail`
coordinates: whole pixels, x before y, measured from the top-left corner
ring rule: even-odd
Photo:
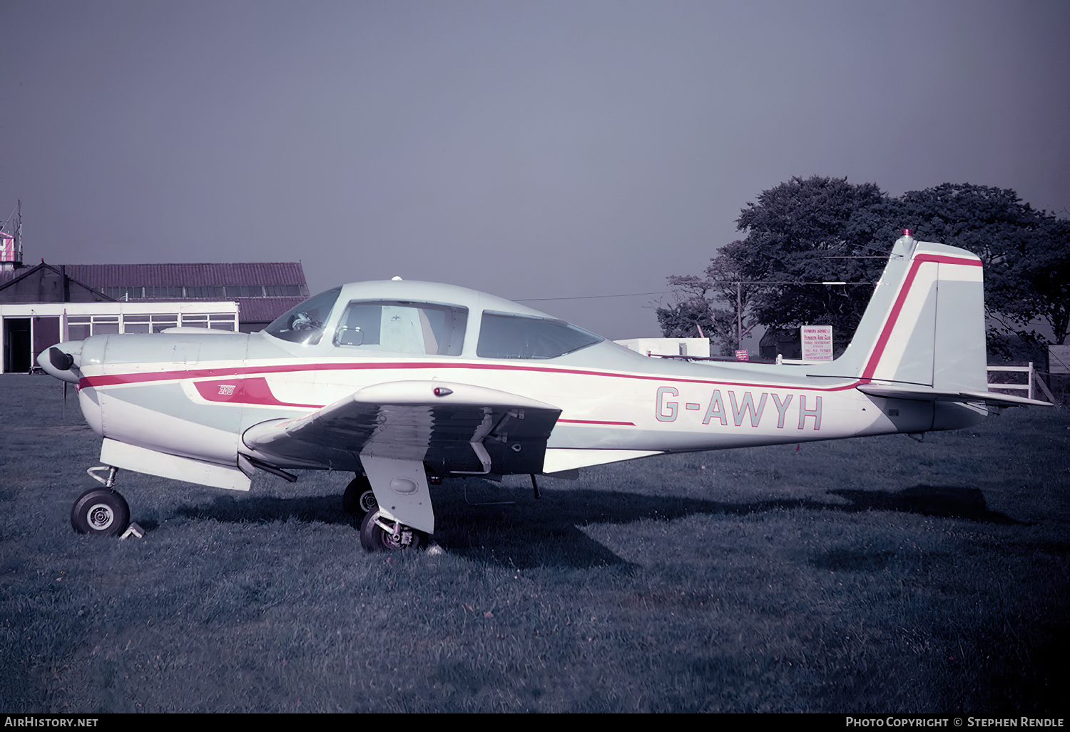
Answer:
[[[484,310],[476,355],[484,359],[556,359],[603,338],[564,320]]]

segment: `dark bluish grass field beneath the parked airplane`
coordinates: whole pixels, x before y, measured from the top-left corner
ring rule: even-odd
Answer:
[[[441,551],[388,554],[343,473],[120,472],[146,537],[77,535],[62,409],[0,376],[0,712],[1066,710],[1067,409],[446,481]]]

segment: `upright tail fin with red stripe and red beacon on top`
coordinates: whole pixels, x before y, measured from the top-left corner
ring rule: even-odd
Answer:
[[[946,393],[988,391],[981,260],[903,233],[837,372]]]

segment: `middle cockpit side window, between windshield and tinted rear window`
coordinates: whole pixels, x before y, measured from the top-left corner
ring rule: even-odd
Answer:
[[[391,353],[460,355],[468,308],[407,301],[352,301],[334,344]]]

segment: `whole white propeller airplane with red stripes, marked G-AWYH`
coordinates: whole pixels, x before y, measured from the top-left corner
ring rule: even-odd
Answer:
[[[90,534],[126,529],[119,469],[248,490],[257,470],[352,471],[366,549],[421,546],[445,476],[571,477],[663,453],[924,432],[988,405],[981,262],[896,242],[851,345],[809,365],[651,359],[516,303],[448,285],[367,281],[264,331],[171,329],[58,344],[41,366],[78,384],[104,438]],[[110,469],[110,470],[108,470]],[[107,478],[94,471],[108,470]],[[537,493],[537,484],[535,484]]]

